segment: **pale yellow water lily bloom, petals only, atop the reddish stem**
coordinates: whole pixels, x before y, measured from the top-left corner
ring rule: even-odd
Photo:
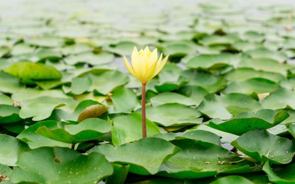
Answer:
[[[163,60],[162,55],[163,53],[161,53],[158,59],[157,49],[150,52],[147,46],[145,50],[141,49],[138,52],[136,47],[134,47],[131,54],[132,67],[125,55],[124,62],[130,74],[139,79],[143,85],[146,85],[148,81],[155,77],[166,64],[169,55],[167,55]]]

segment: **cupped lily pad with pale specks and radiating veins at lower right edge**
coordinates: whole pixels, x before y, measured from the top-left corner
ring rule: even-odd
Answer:
[[[295,145],[287,138],[266,130],[248,131],[232,142],[239,151],[258,161],[286,164],[295,155]]]

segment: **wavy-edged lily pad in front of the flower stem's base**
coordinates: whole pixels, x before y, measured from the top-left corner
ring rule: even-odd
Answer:
[[[179,149],[170,142],[156,137],[140,139],[118,147],[110,144],[96,146],[89,153],[98,152],[110,162],[129,164],[129,171],[140,175],[156,174],[161,164]]]

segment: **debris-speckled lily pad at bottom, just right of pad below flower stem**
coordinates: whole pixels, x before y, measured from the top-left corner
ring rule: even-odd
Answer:
[[[214,176],[217,173],[244,173],[259,171],[260,166],[236,157],[219,145],[201,140],[172,140],[181,149],[176,155],[163,163],[160,176],[195,179]],[[236,164],[232,164],[232,163]]]

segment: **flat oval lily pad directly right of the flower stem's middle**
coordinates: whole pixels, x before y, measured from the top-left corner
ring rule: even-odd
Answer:
[[[203,120],[199,118],[201,113],[197,109],[181,104],[147,106],[146,115],[149,120],[164,127],[201,124]]]

